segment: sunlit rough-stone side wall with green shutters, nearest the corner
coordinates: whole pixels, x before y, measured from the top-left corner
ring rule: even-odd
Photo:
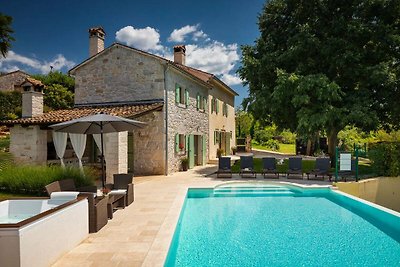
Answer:
[[[175,103],[175,85],[189,90],[189,105]],[[168,173],[176,172],[181,167],[180,159],[185,156],[175,152],[175,134],[208,134],[208,108],[197,110],[197,93],[208,95],[208,88],[184,76],[173,68],[169,68],[166,77],[168,107]],[[209,102],[207,103],[209,105]],[[208,138],[206,140],[208,143]],[[208,147],[208,145],[206,145]],[[208,154],[208,152],[207,152]]]

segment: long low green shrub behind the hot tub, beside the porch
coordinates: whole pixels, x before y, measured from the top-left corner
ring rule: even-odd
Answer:
[[[74,179],[77,187],[93,185],[95,172],[84,168],[82,174],[79,168],[61,166],[10,166],[0,171],[0,189],[10,193],[26,193],[43,195],[44,187],[54,181]]]

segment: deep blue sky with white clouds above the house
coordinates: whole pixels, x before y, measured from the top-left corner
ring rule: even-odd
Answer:
[[[22,1],[3,0],[13,17],[16,41],[0,71],[67,72],[88,57],[88,29],[101,25],[105,46],[120,42],[167,58],[187,46],[187,65],[217,74],[234,88],[239,105],[247,95],[235,71],[240,45],[259,36],[263,0],[248,1]]]

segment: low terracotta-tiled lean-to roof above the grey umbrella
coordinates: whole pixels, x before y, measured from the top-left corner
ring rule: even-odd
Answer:
[[[33,118],[21,118],[17,120],[1,121],[0,125],[13,126],[21,125],[43,125],[47,126],[54,123],[60,123],[77,119],[84,116],[94,115],[100,112],[105,114],[120,116],[123,118],[137,118],[151,111],[162,110],[163,103],[148,103],[148,104],[123,104],[123,105],[98,105],[98,106],[82,106],[72,109],[54,110]]]

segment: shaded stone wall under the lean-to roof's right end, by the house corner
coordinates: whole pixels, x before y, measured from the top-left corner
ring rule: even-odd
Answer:
[[[134,174],[165,174],[164,112],[155,111],[137,118],[147,123],[134,134]]]

